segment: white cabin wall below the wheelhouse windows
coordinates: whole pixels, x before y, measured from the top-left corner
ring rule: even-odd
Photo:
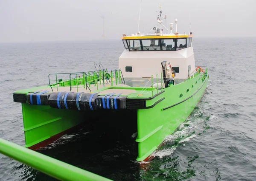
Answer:
[[[189,56],[189,58],[187,58]],[[195,67],[193,49],[184,48],[179,51],[127,51],[124,50],[119,57],[119,69],[124,77],[154,77],[162,73],[161,62],[170,62],[172,67],[179,67],[180,72],[176,74],[177,79],[186,79],[188,76],[188,63],[191,70]],[[131,66],[132,72],[125,72],[125,67]]]

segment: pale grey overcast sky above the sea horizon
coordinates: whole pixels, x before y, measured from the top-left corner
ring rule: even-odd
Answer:
[[[195,37],[256,37],[256,0],[142,0],[140,32],[177,18],[177,30]],[[97,11],[98,10],[98,11]],[[138,28],[140,0],[0,0],[0,42],[119,39]]]

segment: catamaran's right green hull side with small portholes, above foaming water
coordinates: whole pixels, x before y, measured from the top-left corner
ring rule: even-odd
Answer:
[[[207,82],[208,78],[202,82],[201,78],[196,76],[186,82],[166,88],[164,93],[148,102],[153,104],[164,98],[163,101],[151,109],[137,111],[138,136],[136,141],[139,147],[137,161],[147,158],[167,135],[173,133],[178,125],[186,120],[200,101]],[[183,96],[180,97],[180,94]]]

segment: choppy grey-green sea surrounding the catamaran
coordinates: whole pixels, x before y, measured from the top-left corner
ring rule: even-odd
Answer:
[[[195,38],[193,43],[196,65],[209,67],[207,90],[153,153],[153,161],[135,161],[132,131],[113,139],[120,132],[111,126],[109,133],[83,128],[40,152],[120,181],[255,180],[256,38]],[[24,145],[21,106],[13,102],[13,91],[45,85],[50,73],[93,70],[94,61],[118,68],[122,46],[120,40],[0,44],[0,137]],[[0,180],[55,179],[0,155]]]

